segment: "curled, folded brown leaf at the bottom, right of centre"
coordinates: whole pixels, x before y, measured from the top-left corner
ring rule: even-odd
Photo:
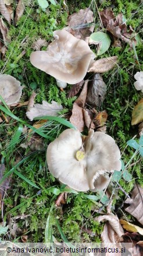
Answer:
[[[102,243],[119,243],[122,240],[124,231],[117,216],[103,215],[96,217],[95,220],[99,223],[106,222],[101,234]]]

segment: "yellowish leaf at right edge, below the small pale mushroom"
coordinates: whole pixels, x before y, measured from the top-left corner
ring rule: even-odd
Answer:
[[[131,125],[141,122],[143,122],[143,99],[133,109]]]

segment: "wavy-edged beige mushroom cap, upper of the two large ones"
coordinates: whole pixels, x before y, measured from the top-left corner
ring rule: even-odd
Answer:
[[[84,40],[77,39],[66,30],[53,32],[55,40],[47,51],[34,51],[30,61],[60,81],[76,84],[85,77],[95,54]]]

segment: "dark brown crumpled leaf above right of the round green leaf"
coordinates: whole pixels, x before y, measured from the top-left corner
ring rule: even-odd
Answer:
[[[133,29],[130,27],[130,30],[127,31],[127,25],[125,22],[123,22],[122,13],[119,13],[119,15],[116,16],[116,19],[110,9],[103,10],[102,12],[100,12],[100,15],[103,27],[105,27],[106,30],[112,33],[114,37],[125,41],[126,43],[130,44],[130,46],[132,46],[133,40],[134,43],[136,43],[134,39]]]

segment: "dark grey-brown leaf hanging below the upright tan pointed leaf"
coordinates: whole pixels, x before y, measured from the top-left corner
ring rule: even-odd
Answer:
[[[103,82],[101,75],[95,74],[88,87],[87,103],[93,108],[101,106],[106,94],[106,84]]]

